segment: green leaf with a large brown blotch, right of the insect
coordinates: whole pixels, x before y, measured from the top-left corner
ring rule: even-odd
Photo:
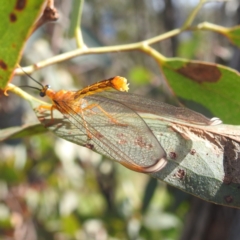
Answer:
[[[224,123],[240,123],[239,72],[179,58],[167,59],[161,68],[178,97],[200,103]]]

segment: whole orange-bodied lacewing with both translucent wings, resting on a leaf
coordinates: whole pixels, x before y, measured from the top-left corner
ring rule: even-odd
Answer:
[[[208,119],[186,108],[128,94],[127,80],[119,76],[75,92],[54,92],[49,85],[41,87],[35,89],[40,91],[41,97],[49,97],[52,105],[41,105],[36,109],[40,122],[58,136],[137,172],[158,172],[167,164],[164,149],[139,112],[197,125],[221,123],[218,118]],[[109,91],[112,89],[117,91]],[[44,110],[50,110],[47,111],[50,116],[47,117]],[[63,117],[56,118],[54,110]]]

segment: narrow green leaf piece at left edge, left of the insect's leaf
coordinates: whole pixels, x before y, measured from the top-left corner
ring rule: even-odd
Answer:
[[[35,134],[45,133],[48,130],[40,123],[28,124],[21,127],[11,127],[0,130],[0,141],[23,138]]]

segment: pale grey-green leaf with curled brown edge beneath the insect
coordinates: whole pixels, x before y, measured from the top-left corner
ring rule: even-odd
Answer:
[[[138,102],[142,103],[143,101]],[[160,103],[156,102],[156,106],[158,104]],[[180,109],[182,110],[182,108]],[[150,104],[148,108],[144,108],[145,111],[141,110],[139,115],[166,152],[167,165],[161,171],[151,173],[152,177],[206,201],[240,208],[238,157],[240,127],[190,123],[187,118],[179,121],[178,118],[165,116],[163,111],[158,112],[157,109],[155,109],[155,115],[150,114],[152,110]],[[87,144],[86,133],[84,134],[81,129],[83,126],[79,124],[77,128],[60,112],[54,112],[54,119],[51,118],[50,111],[36,109],[36,114],[41,123],[57,136],[98,151],[94,145]],[[190,118],[191,113],[186,116]],[[101,132],[97,136],[101,136]],[[112,139],[112,141],[118,140],[114,137]],[[101,151],[99,153],[101,154]],[[111,153],[108,155],[111,156]],[[116,161],[116,159],[113,160]],[[141,157],[138,161],[140,165]],[[148,206],[149,199],[145,197],[144,201],[143,211]]]

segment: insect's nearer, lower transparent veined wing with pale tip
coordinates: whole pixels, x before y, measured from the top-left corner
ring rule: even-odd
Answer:
[[[166,154],[155,135],[127,106],[97,94],[74,104],[55,103],[66,118],[64,126],[56,125],[55,133],[60,137],[96,150],[135,171],[140,167],[141,172],[151,172],[151,166],[158,164],[158,170],[165,166]]]

